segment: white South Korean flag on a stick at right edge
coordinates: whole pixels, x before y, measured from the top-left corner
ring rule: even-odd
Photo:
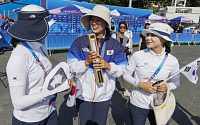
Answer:
[[[180,72],[183,73],[189,81],[196,84],[198,81],[198,76],[196,74],[197,69],[200,67],[200,58],[191,62],[190,64],[184,66],[180,69]]]

